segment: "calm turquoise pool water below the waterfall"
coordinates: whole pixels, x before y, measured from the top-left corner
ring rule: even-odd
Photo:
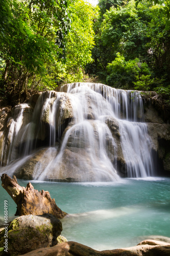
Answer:
[[[18,180],[22,186],[27,181]],[[119,182],[35,182],[50,191],[56,204],[70,216],[62,220],[62,235],[97,250],[134,246],[148,237],[170,237],[170,179],[121,179]],[[0,216],[9,202],[9,220],[16,205],[1,186]]]

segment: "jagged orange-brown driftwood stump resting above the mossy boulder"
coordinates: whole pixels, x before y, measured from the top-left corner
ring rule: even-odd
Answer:
[[[21,187],[15,176],[12,179],[7,174],[3,174],[1,180],[2,186],[17,205],[15,216],[43,215],[48,213],[61,219],[66,215],[66,212],[56,205],[55,199],[51,199],[48,191],[38,191],[34,189],[30,182],[26,188]]]

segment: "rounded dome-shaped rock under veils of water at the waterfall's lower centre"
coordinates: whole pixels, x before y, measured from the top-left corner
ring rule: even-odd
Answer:
[[[117,131],[116,134],[113,131],[113,136],[108,126],[99,120],[86,120],[81,125],[74,124],[74,121],[70,122],[65,129],[59,150],[55,147],[40,150],[17,168],[14,175],[17,178],[66,182],[117,179],[112,166],[116,152],[122,153],[120,141],[116,151],[113,139],[114,136],[119,140],[117,123]],[[100,143],[104,145],[102,149]],[[123,153],[121,156],[119,154],[118,159],[124,161]]]

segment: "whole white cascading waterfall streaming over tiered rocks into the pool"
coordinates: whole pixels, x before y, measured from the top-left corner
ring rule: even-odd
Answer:
[[[23,123],[26,108],[31,119]],[[10,120],[1,135],[1,163],[7,163],[1,173],[37,180],[114,181],[119,179],[119,162],[128,177],[153,175],[151,138],[137,91],[66,84],[61,92],[41,93],[34,110],[31,102],[21,104],[18,116]],[[11,133],[14,139],[9,139]],[[9,167],[21,155],[25,163],[19,159]]]

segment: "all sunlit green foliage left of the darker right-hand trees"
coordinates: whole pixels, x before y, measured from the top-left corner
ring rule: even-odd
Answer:
[[[82,0],[2,0],[1,88],[10,95],[79,80],[91,58],[96,10]],[[2,94],[1,94],[2,95]]]

